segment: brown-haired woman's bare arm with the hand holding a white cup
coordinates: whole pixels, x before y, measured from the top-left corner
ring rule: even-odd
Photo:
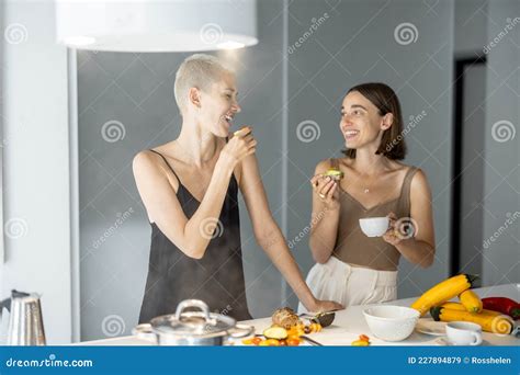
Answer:
[[[410,223],[414,235],[403,232],[399,221],[391,213],[391,229],[383,237],[394,245],[403,257],[414,264],[428,268],[433,263],[436,253],[436,235],[433,229],[433,211],[431,206],[431,191],[426,174],[419,170],[414,175],[410,186]],[[397,221],[396,221],[397,219]],[[399,230],[400,229],[400,230]],[[411,237],[410,237],[411,236]]]

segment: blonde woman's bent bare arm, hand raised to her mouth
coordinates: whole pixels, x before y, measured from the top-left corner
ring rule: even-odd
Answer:
[[[256,141],[251,139],[229,141],[226,147],[231,147],[222,150],[204,198],[190,219],[173,190],[178,181],[171,181],[174,177],[163,162],[158,162],[159,156],[142,151],[134,158],[134,177],[148,216],[188,257],[204,255],[218,224],[233,170],[241,158],[255,152]]]

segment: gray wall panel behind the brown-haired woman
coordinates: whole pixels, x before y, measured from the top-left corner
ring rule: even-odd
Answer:
[[[437,257],[427,270],[402,259],[398,282],[398,297],[418,295],[448,274],[453,2],[438,2],[433,10],[415,1],[334,3],[335,9],[313,0],[290,5],[290,44],[304,35],[313,18],[319,19],[325,12],[329,18],[290,55],[289,158],[293,162],[289,172],[289,238],[309,223],[307,181],[316,163],[340,156],[343,148],[338,124],[344,93],[357,83],[386,82],[402,101],[405,124],[409,116],[426,112],[406,136],[409,154],[405,162],[420,167],[429,178]],[[416,26],[417,41],[402,45],[394,31],[405,22]],[[317,122],[320,129],[319,138],[312,143],[301,141],[296,134],[297,125],[306,120]],[[306,238],[296,250],[305,271],[313,264],[309,251]]]

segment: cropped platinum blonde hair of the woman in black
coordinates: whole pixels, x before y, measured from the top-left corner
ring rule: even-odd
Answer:
[[[215,56],[195,54],[186,57],[177,70],[173,84],[173,94],[181,114],[188,104],[188,92],[191,88],[207,91],[224,72],[233,73],[233,70]]]

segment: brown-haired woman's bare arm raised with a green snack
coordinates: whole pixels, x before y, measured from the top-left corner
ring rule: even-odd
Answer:
[[[323,177],[330,167],[328,160],[316,166],[315,177],[310,180],[313,185],[313,213],[309,247],[313,258],[318,263],[326,263],[332,254],[338,236],[339,225],[339,186]],[[323,198],[319,194],[324,194]]]

